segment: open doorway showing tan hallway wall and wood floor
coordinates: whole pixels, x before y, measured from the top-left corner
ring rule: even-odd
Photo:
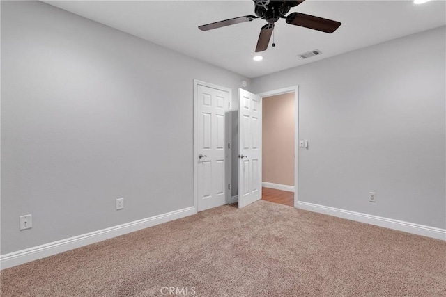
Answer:
[[[298,204],[298,86],[262,97],[262,200]]]

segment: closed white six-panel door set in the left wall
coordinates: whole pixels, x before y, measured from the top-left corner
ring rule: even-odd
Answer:
[[[197,211],[227,203],[229,193],[229,135],[226,113],[230,90],[208,83],[196,84]]]

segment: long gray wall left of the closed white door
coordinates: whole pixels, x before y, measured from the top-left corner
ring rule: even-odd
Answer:
[[[1,1],[1,254],[193,205],[193,79],[249,79]],[[115,210],[115,199],[125,209]],[[19,216],[33,228],[19,231]]]

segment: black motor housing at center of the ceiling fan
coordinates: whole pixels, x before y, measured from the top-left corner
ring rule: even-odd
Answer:
[[[302,1],[274,1],[274,0],[252,0],[255,3],[254,13],[257,17],[265,19],[272,24],[279,18],[285,17],[291,7],[298,6]]]

